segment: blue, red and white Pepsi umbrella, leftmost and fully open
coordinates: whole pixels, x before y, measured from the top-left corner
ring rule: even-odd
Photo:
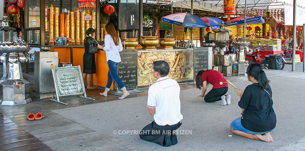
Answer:
[[[162,17],[162,21],[183,27],[195,27],[195,28],[209,27],[198,16],[188,13],[170,14]]]

